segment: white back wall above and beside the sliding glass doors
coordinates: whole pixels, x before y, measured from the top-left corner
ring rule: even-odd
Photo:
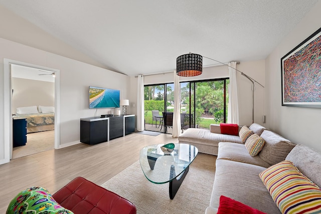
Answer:
[[[265,81],[264,60],[257,61],[242,61],[240,64],[237,64],[237,69],[251,76],[259,83],[263,84]],[[176,75],[176,74],[175,74]],[[194,77],[182,77],[180,76],[180,81],[190,81],[190,80],[201,80],[201,79],[214,79],[228,77],[229,71],[226,65],[223,66],[212,66],[204,67],[203,73],[199,76]],[[240,124],[250,125],[252,124],[252,90],[251,90],[251,81],[246,77],[241,75],[240,72],[237,72],[237,86],[238,86],[238,96],[239,96],[239,114],[240,114]],[[135,86],[137,88],[137,78],[131,77],[130,79],[131,87]],[[174,71],[170,73],[162,73],[155,75],[144,76],[144,84],[158,84],[158,83],[168,83],[174,82]],[[254,92],[254,122],[262,123],[262,115],[264,114],[264,88],[258,84],[255,84]],[[131,97],[135,99],[135,106],[137,105],[137,89],[131,91]],[[132,113],[137,114],[136,108]],[[264,124],[263,124],[264,125]]]

